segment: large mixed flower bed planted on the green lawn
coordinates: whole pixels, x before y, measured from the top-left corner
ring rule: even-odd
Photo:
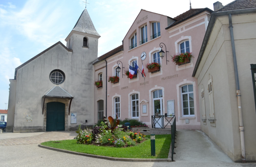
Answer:
[[[74,138],[77,144],[92,144],[92,145],[104,145],[113,147],[131,147],[136,146],[147,138],[145,135],[138,132],[129,131],[124,125],[119,125],[119,120],[116,115],[116,119],[111,116],[108,117],[109,122],[104,117],[104,122],[101,122],[101,126],[95,126],[92,130],[82,130],[79,125],[76,131],[78,135]]]

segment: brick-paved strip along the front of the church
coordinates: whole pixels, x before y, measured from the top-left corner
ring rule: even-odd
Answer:
[[[2,133],[0,134],[0,146],[40,144],[51,140],[74,139],[75,131],[35,132],[35,133]],[[7,138],[5,138],[7,136]],[[16,137],[15,137],[16,136]],[[26,137],[19,137],[26,136]],[[1,139],[4,138],[4,139]]]

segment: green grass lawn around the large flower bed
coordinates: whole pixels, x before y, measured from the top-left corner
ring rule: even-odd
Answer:
[[[150,138],[149,135],[147,135],[147,137]],[[56,141],[47,141],[41,143],[41,145],[108,157],[168,158],[168,153],[171,145],[171,135],[156,135],[156,156],[154,157],[151,157],[150,139],[144,141],[143,143],[137,146],[126,148],[76,144],[76,140],[60,140],[58,141],[60,143],[54,142]]]

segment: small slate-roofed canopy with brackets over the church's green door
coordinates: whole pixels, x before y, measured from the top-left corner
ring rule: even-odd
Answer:
[[[42,113],[44,114],[44,102],[45,98],[67,98],[70,99],[69,102],[69,107],[68,107],[68,115],[70,115],[70,106],[71,106],[71,101],[74,98],[71,94],[69,94],[66,90],[61,88],[59,85],[54,86],[51,90],[49,90],[44,96],[43,96],[43,111]]]

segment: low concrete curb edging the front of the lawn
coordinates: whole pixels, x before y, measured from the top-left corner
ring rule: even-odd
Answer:
[[[114,157],[106,157],[106,156],[101,156],[101,155],[93,155],[93,154],[86,154],[86,153],[81,153],[81,152],[74,152],[74,151],[69,151],[69,150],[63,150],[59,148],[53,148],[53,147],[48,147],[44,146],[41,144],[38,144],[39,147],[41,148],[46,148],[49,150],[53,151],[59,151],[59,152],[64,152],[68,154],[75,154],[75,155],[81,155],[81,156],[86,156],[86,157],[92,157],[92,158],[100,158],[100,159],[106,159],[106,160],[111,160],[111,161],[125,161],[125,162],[171,162],[171,159],[169,158],[163,158],[163,159],[136,159],[136,158],[114,158]],[[169,153],[170,155],[170,153]]]

